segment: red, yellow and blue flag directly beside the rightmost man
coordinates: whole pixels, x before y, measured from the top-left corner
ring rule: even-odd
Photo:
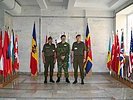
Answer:
[[[85,45],[86,45],[86,49],[87,49],[85,71],[86,71],[86,73],[88,73],[92,68],[91,39],[90,39],[90,32],[89,32],[88,24],[87,24],[87,27],[86,27]]]

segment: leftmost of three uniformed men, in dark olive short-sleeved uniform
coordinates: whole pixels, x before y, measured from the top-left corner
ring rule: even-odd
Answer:
[[[50,66],[50,82],[54,83],[53,70],[56,62],[55,45],[52,43],[52,37],[48,38],[48,43],[43,46],[42,58],[44,63],[44,83],[47,83],[48,67]]]

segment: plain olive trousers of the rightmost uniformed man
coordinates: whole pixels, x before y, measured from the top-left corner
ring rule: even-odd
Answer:
[[[73,67],[74,67],[74,78],[78,77],[78,66],[80,69],[81,79],[84,79],[84,66],[83,66],[83,56],[74,56]]]

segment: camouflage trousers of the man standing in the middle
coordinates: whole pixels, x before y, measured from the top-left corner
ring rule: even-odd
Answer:
[[[68,62],[63,62],[63,61],[58,61],[58,72],[57,72],[57,77],[61,77],[62,75],[62,69],[64,70],[64,74],[65,77],[68,78],[69,77],[69,73],[68,73]]]

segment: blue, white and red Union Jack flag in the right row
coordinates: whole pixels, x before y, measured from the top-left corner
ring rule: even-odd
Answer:
[[[123,67],[125,64],[125,57],[124,57],[124,33],[122,31],[121,35],[121,49],[120,49],[120,68],[118,70],[118,73],[121,77],[123,77]]]

